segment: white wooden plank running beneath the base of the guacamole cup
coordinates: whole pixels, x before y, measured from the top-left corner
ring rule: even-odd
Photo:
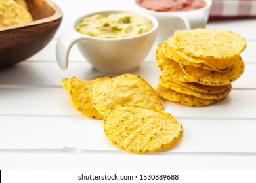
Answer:
[[[233,82],[233,88],[256,88],[256,64],[245,64],[245,71],[238,80]],[[144,62],[139,69],[132,72],[140,75],[152,86],[158,85],[158,78],[161,75],[160,69],[154,62]],[[2,85],[29,85],[29,86],[60,86],[62,78],[76,76],[79,79],[95,78],[103,75],[95,71],[89,63],[70,62],[67,70],[62,70],[57,63],[26,61],[12,67],[1,69],[0,86]]]

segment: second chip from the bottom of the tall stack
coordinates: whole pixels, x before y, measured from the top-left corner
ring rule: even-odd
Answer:
[[[179,93],[183,93],[186,95],[192,95],[194,97],[198,97],[200,99],[211,99],[211,100],[219,100],[222,99],[224,97],[226,97],[226,95],[228,95],[228,93],[230,93],[231,88],[228,88],[227,90],[225,90],[224,92],[221,93],[217,93],[217,94],[206,94],[206,93],[201,93],[201,92],[196,92],[194,90],[191,90],[190,88],[186,88],[180,84],[177,84],[177,82],[165,82],[164,80],[159,79],[159,84],[161,86],[164,86],[165,88],[174,90],[175,92],[179,92]]]

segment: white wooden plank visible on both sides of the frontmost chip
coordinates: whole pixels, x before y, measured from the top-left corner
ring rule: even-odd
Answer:
[[[256,144],[254,138],[256,118],[254,120],[177,118],[177,120],[184,127],[182,141],[163,154],[256,153],[256,146],[253,145]],[[102,120],[88,120],[83,116],[1,116],[0,149],[68,148],[119,151],[106,139]]]

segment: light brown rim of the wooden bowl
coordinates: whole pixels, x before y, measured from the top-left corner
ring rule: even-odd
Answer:
[[[52,22],[54,20],[58,20],[58,19],[62,18],[62,16],[63,16],[62,10],[60,9],[60,7],[58,7],[58,5],[56,5],[56,3],[54,3],[51,0],[44,0],[44,1],[55,10],[55,13],[52,16],[49,16],[47,18],[41,18],[39,20],[34,20],[32,22],[27,22],[24,24],[12,25],[12,26],[8,26],[8,27],[0,27],[0,32],[12,30],[12,29],[18,29],[18,28],[22,28],[22,27],[30,27],[30,26],[38,25],[38,24],[45,24],[47,22]]]

